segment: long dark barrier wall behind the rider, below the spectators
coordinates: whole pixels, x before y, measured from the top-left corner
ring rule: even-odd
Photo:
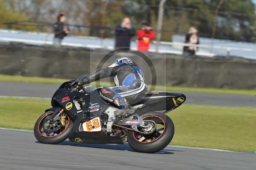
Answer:
[[[73,79],[94,71],[109,52],[105,49],[0,44],[0,74]],[[114,58],[122,55],[131,57],[141,67],[148,84],[152,82],[154,67],[159,85],[256,89],[256,61],[253,60],[146,53],[153,63],[148,66],[140,56],[125,52],[114,55],[103,66],[111,65]]]

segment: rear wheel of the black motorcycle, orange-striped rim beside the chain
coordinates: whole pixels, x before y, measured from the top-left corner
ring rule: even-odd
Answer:
[[[156,153],[165,148],[174,135],[172,119],[159,113],[142,115],[143,120],[155,121],[157,127],[154,133],[143,135],[135,131],[128,131],[128,144],[132,149],[142,153]]]

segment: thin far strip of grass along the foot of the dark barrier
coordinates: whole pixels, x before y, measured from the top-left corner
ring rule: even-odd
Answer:
[[[62,84],[67,79],[59,78],[38,78],[25,77],[19,75],[0,75],[0,81],[9,82],[25,82],[25,83],[42,83],[42,84]],[[92,83],[95,85],[95,83]],[[107,82],[101,82],[101,86],[110,86]],[[236,94],[236,95],[253,95],[256,96],[256,90],[248,89],[215,89],[215,88],[196,88],[196,87],[180,87],[180,86],[156,86],[156,90],[170,91],[170,92],[205,92],[205,93],[219,93],[219,94]]]

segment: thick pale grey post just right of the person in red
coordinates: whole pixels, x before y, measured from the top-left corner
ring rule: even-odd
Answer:
[[[161,40],[161,30],[162,30],[162,23],[163,23],[163,4],[166,2],[166,0],[161,0],[159,5],[159,12],[157,17],[157,45],[156,45],[156,52],[158,52],[158,48],[160,45]]]

